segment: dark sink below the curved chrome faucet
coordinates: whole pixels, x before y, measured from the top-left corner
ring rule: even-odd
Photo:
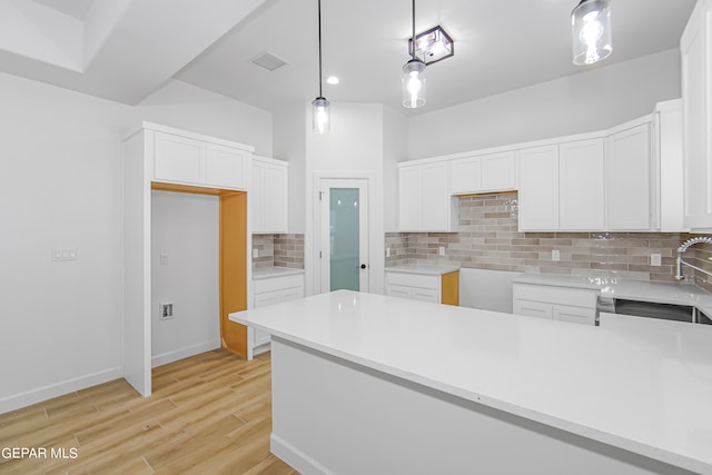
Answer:
[[[712,319],[710,319],[708,315],[691,305],[661,304],[657,301],[599,296],[596,303],[596,325],[600,324],[600,315],[602,313],[712,325]]]

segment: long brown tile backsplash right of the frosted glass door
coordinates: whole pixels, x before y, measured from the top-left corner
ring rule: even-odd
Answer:
[[[520,232],[516,194],[459,199],[458,232],[386,234],[386,267],[458,265],[535,274],[585,275],[674,281],[676,249],[686,232]],[[445,256],[438,248],[445,248]],[[558,250],[560,260],[552,259]],[[690,249],[692,250],[692,248]],[[650,255],[662,256],[661,266]],[[712,246],[696,246],[685,260],[712,271]],[[691,270],[688,269],[686,274]],[[699,276],[695,281],[712,289]]]

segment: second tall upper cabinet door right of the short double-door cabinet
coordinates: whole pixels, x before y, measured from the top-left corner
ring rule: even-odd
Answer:
[[[558,147],[558,228],[602,230],[604,222],[603,139]]]

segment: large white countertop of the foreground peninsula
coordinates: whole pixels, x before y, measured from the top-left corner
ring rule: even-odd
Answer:
[[[229,318],[473,402],[712,474],[712,331],[572,325],[348,290]]]

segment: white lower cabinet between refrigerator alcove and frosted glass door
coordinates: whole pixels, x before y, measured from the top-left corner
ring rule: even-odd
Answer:
[[[255,280],[253,307],[280,304],[304,297],[304,275],[269,277]],[[269,349],[269,334],[257,328],[247,328],[247,359]]]

